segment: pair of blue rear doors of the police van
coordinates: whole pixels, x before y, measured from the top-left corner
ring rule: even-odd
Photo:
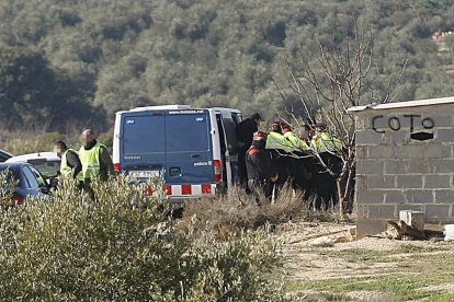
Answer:
[[[138,178],[163,173],[169,185],[213,184],[211,124],[206,109],[124,113],[122,170]]]

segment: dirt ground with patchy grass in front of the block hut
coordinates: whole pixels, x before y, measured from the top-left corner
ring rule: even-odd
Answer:
[[[280,228],[293,300],[454,301],[452,242],[353,241],[352,228],[309,222]]]

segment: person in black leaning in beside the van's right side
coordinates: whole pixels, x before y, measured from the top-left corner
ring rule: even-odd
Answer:
[[[260,114],[254,113],[250,117],[242,120],[238,124],[236,132],[238,139],[238,166],[239,166],[239,179],[240,184],[246,186],[248,181],[245,154],[248,151],[249,147],[252,144],[252,136],[254,132],[259,131],[260,121],[262,117]]]

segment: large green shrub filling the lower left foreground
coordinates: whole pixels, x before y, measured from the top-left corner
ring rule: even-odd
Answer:
[[[276,301],[279,245],[264,232],[218,242],[179,232],[161,196],[118,177],[90,202],[70,181],[52,201],[0,212],[0,300]]]

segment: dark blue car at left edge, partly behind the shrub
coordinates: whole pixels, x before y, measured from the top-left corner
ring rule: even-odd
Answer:
[[[44,176],[29,163],[0,163],[0,198],[10,198],[12,205],[23,204],[29,196],[48,198],[50,186]]]

